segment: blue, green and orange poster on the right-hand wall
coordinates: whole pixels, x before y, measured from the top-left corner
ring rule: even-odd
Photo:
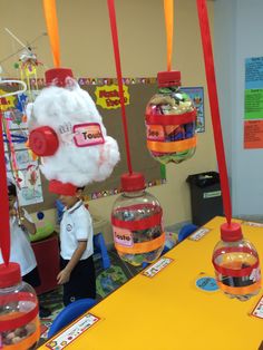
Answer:
[[[245,60],[244,148],[263,148],[263,57]]]

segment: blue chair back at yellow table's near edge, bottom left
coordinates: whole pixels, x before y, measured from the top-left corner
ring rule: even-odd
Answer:
[[[79,315],[88,311],[96,303],[97,301],[95,299],[87,298],[76,300],[71,304],[67,305],[53,320],[48,331],[48,338],[53,337],[55,333],[59,332],[64,327],[76,320]]]

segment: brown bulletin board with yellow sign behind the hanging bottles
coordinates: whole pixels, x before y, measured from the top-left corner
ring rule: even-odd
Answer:
[[[125,138],[121,123],[121,111],[118,97],[117,80],[111,78],[79,78],[79,85],[87,90],[103,117],[107,134],[114,137],[119,146],[120,162],[114,168],[113,174],[100,183],[92,183],[86,186],[85,196],[87,200],[96,200],[120,192],[120,176],[127,173],[125,152]],[[43,79],[38,79],[38,87],[41,89]],[[2,87],[4,90],[4,87]],[[9,90],[10,87],[7,87]],[[33,89],[33,81],[32,81]],[[198,104],[198,132],[204,132],[204,108],[203,88],[185,88],[193,100]],[[192,90],[191,90],[192,89]],[[160,166],[150,155],[146,147],[145,107],[150,97],[157,90],[156,78],[124,78],[124,96],[126,101],[126,115],[128,124],[128,136],[130,144],[132,164],[134,172],[140,172],[146,179],[146,186],[162,185],[166,182],[165,166]],[[29,204],[29,212],[48,210],[55,206],[56,195],[49,193],[48,181],[40,174],[42,203]]]

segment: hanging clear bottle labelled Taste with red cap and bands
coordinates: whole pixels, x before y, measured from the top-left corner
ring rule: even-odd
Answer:
[[[138,266],[159,257],[164,244],[163,210],[145,191],[142,174],[121,176],[121,195],[111,212],[115,247],[121,260]]]

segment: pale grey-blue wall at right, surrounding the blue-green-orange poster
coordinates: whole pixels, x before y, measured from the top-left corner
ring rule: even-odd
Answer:
[[[262,216],[263,150],[243,148],[243,120],[245,58],[263,56],[263,1],[216,0],[214,12],[217,84],[233,214]]]

